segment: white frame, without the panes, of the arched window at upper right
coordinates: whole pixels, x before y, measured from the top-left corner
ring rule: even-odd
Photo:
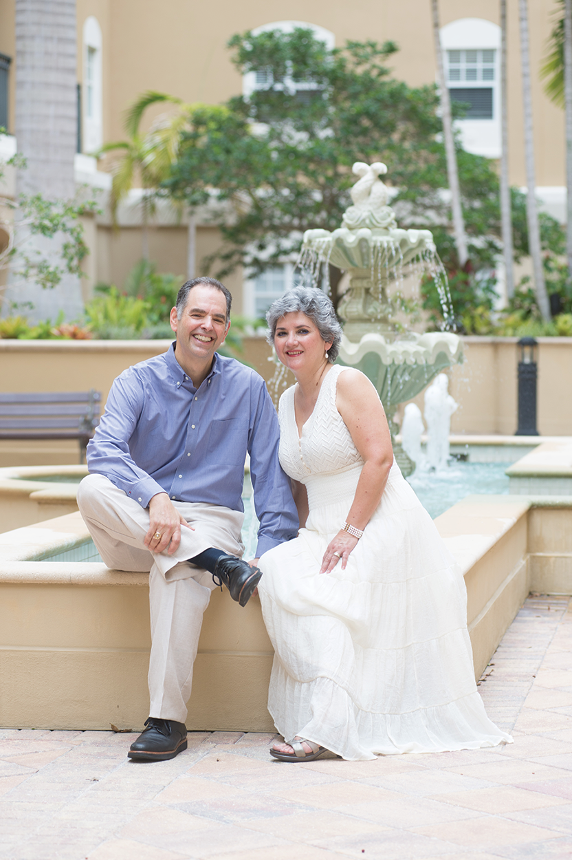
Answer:
[[[467,152],[487,158],[501,157],[501,28],[484,18],[460,18],[441,28],[441,48],[449,89],[492,89],[492,119],[455,120],[463,147]],[[459,80],[448,78],[449,51],[495,51],[493,80]]]

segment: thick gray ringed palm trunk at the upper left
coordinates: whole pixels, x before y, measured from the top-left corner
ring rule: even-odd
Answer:
[[[15,133],[27,168],[17,174],[18,194],[70,199],[75,192],[77,136],[75,0],[15,0]],[[61,254],[58,237],[47,240],[18,231],[18,243],[37,249],[52,261]],[[53,290],[10,279],[8,301],[33,304],[32,320],[68,319],[83,310],[76,275],[64,274]]]

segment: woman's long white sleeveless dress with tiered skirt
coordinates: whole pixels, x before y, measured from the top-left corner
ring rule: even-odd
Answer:
[[[463,576],[395,462],[345,570],[319,574],[363,465],[336,408],[344,369],[326,374],[301,438],[294,388],[280,400],[280,462],[305,484],[310,513],[259,562],[275,725],[350,760],[510,741],[475,685]]]

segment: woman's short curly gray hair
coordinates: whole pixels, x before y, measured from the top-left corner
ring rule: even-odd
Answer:
[[[342,327],[338,322],[332,302],[319,287],[295,286],[293,290],[285,292],[283,296],[272,302],[266,313],[266,322],[270,328],[266,340],[272,347],[278,320],[282,319],[285,314],[298,312],[306,314],[312,320],[323,341],[326,343],[332,341],[332,346],[328,351],[328,361],[333,364],[338,358]]]

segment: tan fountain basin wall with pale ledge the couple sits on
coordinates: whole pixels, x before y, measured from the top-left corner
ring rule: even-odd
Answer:
[[[465,576],[478,677],[530,589],[572,591],[572,497],[471,496],[435,524]],[[87,539],[79,513],[0,535],[3,727],[143,728],[147,574],[22,560],[25,547],[38,556]],[[259,599],[241,609],[216,590],[204,614],[188,728],[273,731],[271,662]]]

